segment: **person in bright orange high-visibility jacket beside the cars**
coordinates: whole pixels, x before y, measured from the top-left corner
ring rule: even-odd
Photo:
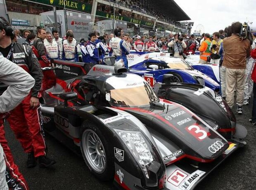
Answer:
[[[209,33],[206,33],[204,34],[204,41],[202,41],[202,44],[198,49],[200,51],[199,63],[208,63],[207,57],[211,56],[210,46],[211,46],[210,35]]]

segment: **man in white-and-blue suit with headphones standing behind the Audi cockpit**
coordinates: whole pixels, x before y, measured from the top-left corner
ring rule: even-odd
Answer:
[[[112,56],[116,56],[117,66],[124,66],[128,69],[128,60],[126,55],[130,54],[130,48],[126,41],[121,39],[123,36],[122,28],[116,28],[114,30],[115,38],[111,42],[111,48],[113,50]]]

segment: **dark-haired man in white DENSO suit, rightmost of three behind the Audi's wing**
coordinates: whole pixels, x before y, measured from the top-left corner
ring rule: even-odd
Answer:
[[[66,39],[63,41],[63,56],[67,61],[83,62],[80,45],[74,40],[73,32],[66,32]]]

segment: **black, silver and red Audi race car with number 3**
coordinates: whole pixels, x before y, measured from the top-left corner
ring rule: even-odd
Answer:
[[[57,84],[41,99],[43,122],[54,137],[80,147],[92,174],[114,178],[119,188],[193,189],[246,144],[233,138],[243,127],[220,125],[219,131],[230,133],[223,137],[185,106],[159,99],[126,68],[60,60],[54,65]]]

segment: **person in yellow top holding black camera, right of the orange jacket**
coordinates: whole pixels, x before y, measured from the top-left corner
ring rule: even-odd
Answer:
[[[220,44],[222,39],[220,39],[220,33],[214,32],[213,33],[213,41],[211,42],[210,51],[211,51],[211,61],[210,63],[219,64],[220,63],[220,56],[218,51],[220,49]]]

